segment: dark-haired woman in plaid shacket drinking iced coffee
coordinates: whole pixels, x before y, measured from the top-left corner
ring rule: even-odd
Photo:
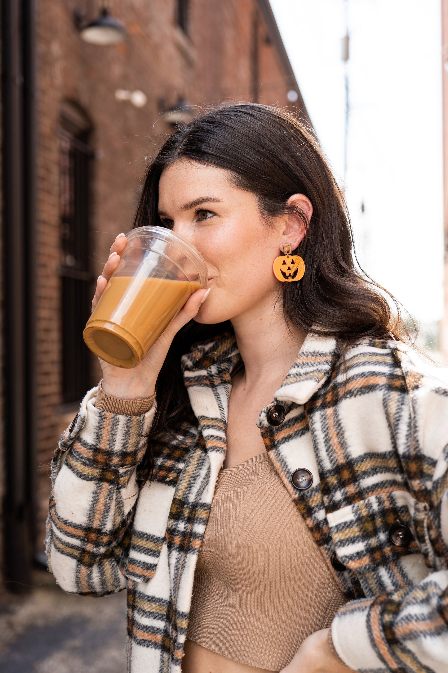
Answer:
[[[132,673],[446,671],[448,390],[355,268],[318,145],[275,108],[205,114],[148,168],[154,222],[208,287],[138,367],[101,362],[62,435],[58,583],[127,588]],[[289,246],[305,272],[280,282]]]

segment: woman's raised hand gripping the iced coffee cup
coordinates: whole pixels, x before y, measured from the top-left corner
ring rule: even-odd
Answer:
[[[109,258],[104,265],[103,273],[97,279],[92,310],[99,302],[99,297],[101,297],[107,283],[109,283],[111,275],[118,267],[118,264],[120,264],[120,255],[122,255],[124,248],[126,248],[127,242],[128,240],[124,234],[118,234],[116,240],[111,245]],[[165,357],[167,357],[175,334],[191,318],[195,317],[206,294],[208,294],[208,290],[204,288],[193,292],[185,306],[171,320],[165,332],[161,334],[156,343],[154,343],[154,346],[146,354],[146,357],[136,367],[124,369],[109,365],[109,363],[99,359],[101,369],[103,370],[102,387],[104,392],[126,400],[134,400],[138,397],[151,397],[154,394],[157,376],[165,361]]]

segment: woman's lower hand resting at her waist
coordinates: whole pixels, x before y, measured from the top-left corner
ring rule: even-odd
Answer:
[[[306,638],[291,662],[280,673],[353,673],[334,656],[328,643],[328,629]]]

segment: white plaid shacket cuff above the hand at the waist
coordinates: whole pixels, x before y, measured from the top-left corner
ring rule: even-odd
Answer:
[[[388,671],[379,659],[369,637],[369,612],[374,598],[345,603],[334,615],[329,640],[339,658],[355,671]]]

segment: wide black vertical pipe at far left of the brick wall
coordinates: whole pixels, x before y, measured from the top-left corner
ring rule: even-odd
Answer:
[[[24,176],[24,7],[1,3],[3,136],[3,398],[5,410],[4,544],[6,587],[30,584],[28,338]],[[29,212],[29,211],[28,211]]]

